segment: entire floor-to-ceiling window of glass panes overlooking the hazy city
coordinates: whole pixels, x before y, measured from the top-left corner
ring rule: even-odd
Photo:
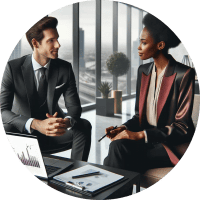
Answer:
[[[95,0],[83,1],[79,3],[79,96],[81,104],[95,103],[96,98],[96,9]],[[116,2],[118,4],[118,52],[127,55],[127,29],[128,5]],[[116,5],[116,4],[115,4]],[[49,16],[58,19],[58,33],[61,48],[59,58],[67,60],[73,65],[73,4],[66,5],[49,13]],[[139,36],[142,29],[141,20],[147,12],[138,8],[131,7],[131,92],[135,92],[137,69],[142,63],[138,56]],[[75,15],[78,13],[75,13]],[[117,15],[117,14],[116,14]],[[78,15],[77,15],[78,16]],[[106,68],[106,60],[113,53],[113,1],[101,1],[101,81],[113,81],[112,75]],[[116,35],[115,35],[116,36]],[[97,38],[98,40],[98,38]],[[178,52],[178,53],[177,53]],[[32,49],[27,42],[26,36],[23,35],[11,53],[10,60],[27,54],[31,54]],[[179,62],[182,62],[184,55],[189,55],[184,44],[181,43],[177,48],[171,49],[170,54]],[[190,64],[192,64],[191,58]],[[150,62],[146,60],[143,63]],[[98,63],[99,64],[99,63]],[[75,70],[74,70],[75,71]],[[77,73],[77,71],[75,71]],[[77,75],[77,74],[76,74]],[[118,78],[118,89],[126,94],[127,76]],[[65,108],[63,98],[59,104]]]

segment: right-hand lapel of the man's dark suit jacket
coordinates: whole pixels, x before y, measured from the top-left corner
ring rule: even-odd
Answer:
[[[48,72],[48,89],[47,89],[47,105],[49,114],[53,115],[53,103],[55,87],[58,79],[58,67],[56,66],[56,60],[51,60]]]

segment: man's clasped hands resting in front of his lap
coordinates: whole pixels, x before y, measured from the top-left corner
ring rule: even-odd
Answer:
[[[62,136],[68,128],[66,125],[67,120],[53,116],[45,120],[34,119],[31,128],[46,136]]]

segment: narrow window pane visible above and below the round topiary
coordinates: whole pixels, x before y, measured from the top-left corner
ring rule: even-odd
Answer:
[[[118,52],[126,54],[126,41],[127,5],[118,3]],[[118,77],[118,90],[122,90],[122,95],[126,94],[126,78],[126,74]]]

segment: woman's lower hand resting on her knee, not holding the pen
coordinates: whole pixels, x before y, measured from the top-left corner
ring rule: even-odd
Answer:
[[[141,140],[145,137],[144,131],[132,132],[129,130],[123,130],[115,137],[111,138],[111,141],[121,140],[121,139],[129,139],[129,140]]]

